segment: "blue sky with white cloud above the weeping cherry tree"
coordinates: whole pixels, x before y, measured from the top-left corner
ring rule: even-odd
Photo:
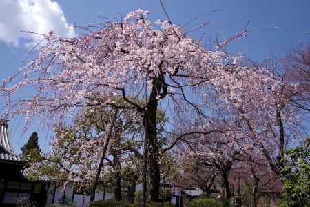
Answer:
[[[205,32],[206,45],[216,34],[219,37],[229,37],[242,31],[249,21],[249,29],[260,30],[251,32],[246,39],[240,39],[228,49],[248,55],[255,61],[262,61],[271,54],[284,55],[291,46],[309,41],[310,38],[309,0],[165,0],[164,3],[173,23],[183,24],[194,17],[200,17],[192,23],[191,26],[194,27],[206,21],[214,21],[192,34],[192,37],[198,38]],[[39,33],[55,30],[63,36],[71,37],[79,33],[74,33],[74,23],[83,26],[102,21],[98,18],[99,15],[121,19],[131,10],[138,8],[149,10],[152,20],[165,19],[157,0],[1,0],[0,78],[8,77],[23,66],[28,48],[37,41],[37,37],[30,37],[21,33],[21,30]],[[218,11],[205,15],[212,10]],[[285,29],[265,29],[271,26]],[[39,143],[43,150],[48,150],[51,132],[36,125],[22,133],[23,120],[12,121],[11,140],[17,152],[33,131],[39,132]]]

